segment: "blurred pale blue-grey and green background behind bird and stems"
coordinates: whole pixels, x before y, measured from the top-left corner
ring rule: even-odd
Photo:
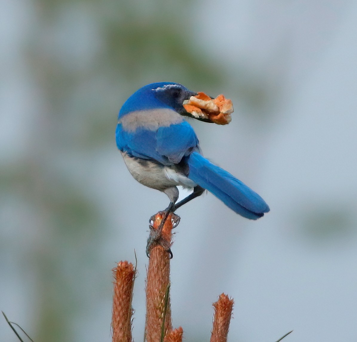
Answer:
[[[271,212],[253,222],[211,194],[178,210],[174,326],[208,341],[225,292],[230,341],[356,340],[356,2],[2,0],[0,18],[10,320],[36,342],[111,341],[111,269],[135,249],[142,341],[148,220],[168,203],[131,177],[114,132],[136,89],[175,81],[233,100],[230,125],[192,125]],[[17,341],[2,317],[0,340]]]

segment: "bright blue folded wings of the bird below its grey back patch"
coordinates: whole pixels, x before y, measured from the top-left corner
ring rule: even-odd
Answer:
[[[164,165],[177,164],[198,148],[196,134],[186,121],[157,130],[137,128],[135,132],[127,132],[118,124],[116,143],[121,151],[134,157],[154,159]]]

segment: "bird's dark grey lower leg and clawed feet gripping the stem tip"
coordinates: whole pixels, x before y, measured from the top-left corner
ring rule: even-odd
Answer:
[[[148,258],[150,258],[150,250],[152,246],[155,244],[159,244],[168,253],[170,253],[170,259],[172,259],[173,257],[173,254],[170,249],[170,241],[166,241],[165,239],[162,238],[162,229],[164,228],[164,224],[166,222],[166,219],[169,217],[170,213],[172,213],[171,216],[172,228],[177,227],[178,223],[180,223],[180,216],[174,214],[174,205],[175,205],[174,202],[170,202],[169,207],[167,207],[164,211],[157,213],[162,215],[159,227],[154,228],[155,217],[157,214],[152,215],[149,220],[150,235],[149,238],[147,239],[147,244],[146,244],[146,255]]]

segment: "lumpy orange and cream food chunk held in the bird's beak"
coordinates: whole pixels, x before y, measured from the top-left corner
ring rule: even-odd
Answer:
[[[186,101],[185,101],[186,102]],[[230,99],[226,99],[224,95],[218,95],[215,99],[210,96],[198,92],[196,96],[183,104],[183,107],[188,113],[197,119],[208,119],[218,125],[229,124],[232,120],[233,104]]]

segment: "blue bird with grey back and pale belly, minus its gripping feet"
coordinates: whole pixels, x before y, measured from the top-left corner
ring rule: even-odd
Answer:
[[[200,196],[205,189],[248,219],[270,209],[265,201],[227,171],[204,158],[196,134],[185,117],[183,101],[197,93],[183,85],[157,82],[143,86],[122,105],[116,143],[132,176],[170,199],[167,213]],[[199,119],[208,121],[207,119]],[[193,192],[177,202],[177,185]]]

